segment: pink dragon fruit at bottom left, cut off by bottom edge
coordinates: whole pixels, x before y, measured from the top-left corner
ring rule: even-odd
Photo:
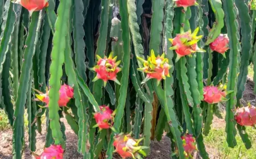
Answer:
[[[36,159],[63,159],[64,149],[61,145],[51,145],[48,148],[44,148],[44,152],[39,156],[35,153],[33,155]]]

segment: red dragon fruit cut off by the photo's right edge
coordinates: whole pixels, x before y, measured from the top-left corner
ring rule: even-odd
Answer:
[[[235,119],[242,126],[254,126],[256,124],[256,107],[249,106],[238,108]]]

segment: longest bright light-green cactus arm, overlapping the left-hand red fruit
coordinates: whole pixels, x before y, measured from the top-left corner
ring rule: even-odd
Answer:
[[[68,33],[69,25],[69,10],[71,9],[71,1],[61,1],[57,10],[57,20],[55,23],[55,34],[53,36],[53,49],[51,53],[52,63],[49,68],[51,77],[49,79],[49,119],[50,127],[52,129],[52,137],[55,140],[55,144],[61,144],[65,147],[63,133],[60,129],[59,123],[59,89],[60,89],[60,78],[62,76],[62,65],[64,63],[64,51],[65,47],[65,36]]]

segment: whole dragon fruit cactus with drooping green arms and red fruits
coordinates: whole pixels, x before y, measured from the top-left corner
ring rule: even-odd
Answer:
[[[25,120],[31,152],[44,127],[37,157],[64,157],[62,118],[84,158],[142,158],[163,132],[179,159],[195,145],[209,158],[204,136],[219,102],[229,147],[240,135],[249,149],[255,106],[240,100],[256,63],[256,1],[247,2],[0,0],[0,108],[13,158],[22,159]]]

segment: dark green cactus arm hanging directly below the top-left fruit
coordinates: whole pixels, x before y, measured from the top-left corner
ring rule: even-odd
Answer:
[[[38,41],[38,31],[41,25],[42,12],[34,12],[32,15],[30,30],[26,39],[26,45],[24,49],[24,62],[21,68],[22,74],[19,78],[18,97],[16,99],[16,108],[14,111],[14,133],[13,133],[13,155],[15,158],[22,158],[22,138],[24,129],[24,106],[27,98],[28,81],[30,79],[31,68],[32,68],[32,57],[35,53],[36,41]]]

